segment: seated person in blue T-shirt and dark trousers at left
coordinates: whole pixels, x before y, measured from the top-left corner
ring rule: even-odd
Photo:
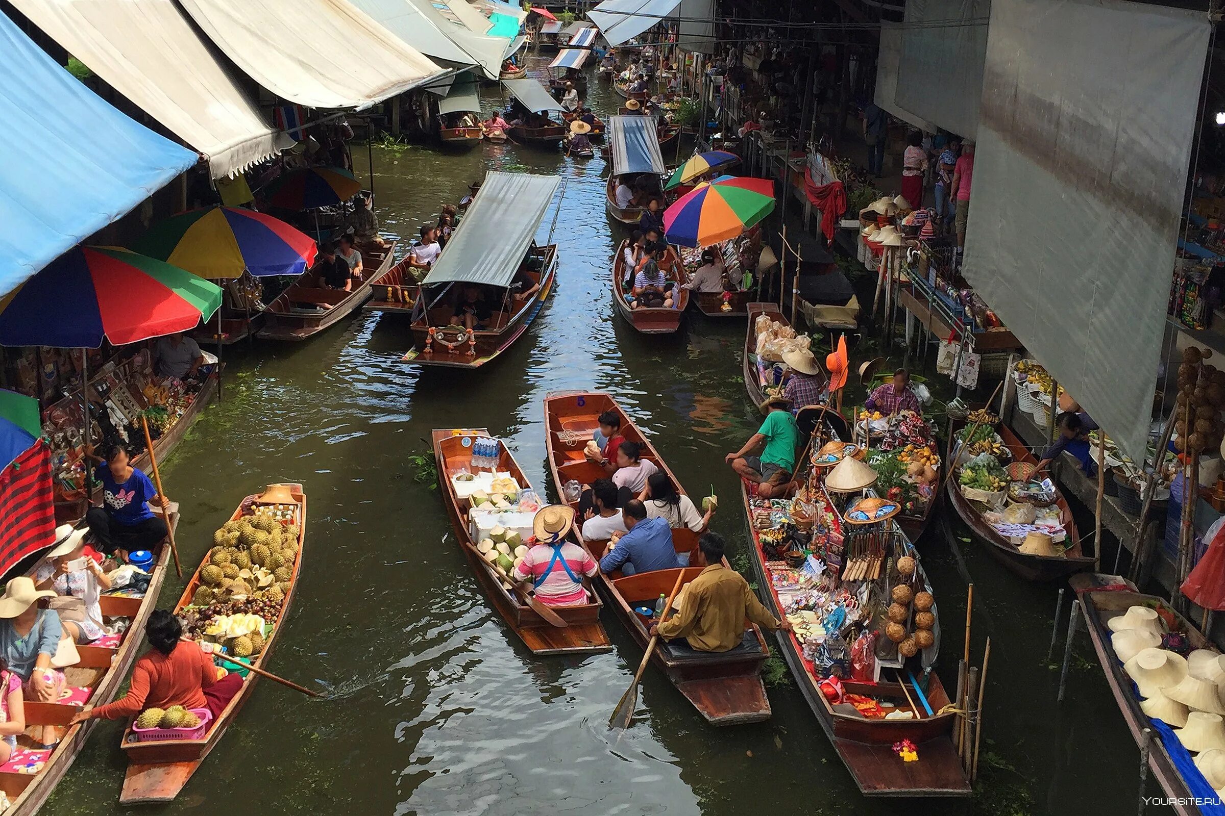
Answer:
[[[93,445],[88,445],[85,458],[97,464],[94,478],[102,482],[102,506],[85,514],[98,548],[121,562],[132,551],[153,549],[165,538],[167,526],[147,505],[165,506],[169,499],[158,495],[145,471],[132,467],[121,444],[111,445],[105,459],[94,456]]]

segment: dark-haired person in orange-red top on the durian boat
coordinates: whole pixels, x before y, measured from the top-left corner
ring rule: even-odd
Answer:
[[[145,625],[151,648],[132,668],[127,694],[104,706],[86,706],[72,716],[71,724],[87,719],[126,719],[146,708],[207,708],[217,722],[229,701],[243,689],[238,674],[221,674],[212,655],[200,644],[183,640],[183,624],[167,609],[154,609]]]

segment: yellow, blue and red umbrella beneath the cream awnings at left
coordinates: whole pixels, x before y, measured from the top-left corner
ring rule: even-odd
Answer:
[[[154,224],[132,250],[201,278],[300,275],[315,241],[284,221],[239,207],[207,207]]]

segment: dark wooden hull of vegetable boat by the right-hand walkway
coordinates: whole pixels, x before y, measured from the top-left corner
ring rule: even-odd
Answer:
[[[1025,444],[1013,434],[1008,426],[1000,426],[1000,436],[1012,453],[1014,461],[1038,464],[1038,459],[1029,453]],[[1055,488],[1055,500],[1060,508],[1063,529],[1067,531],[1067,542],[1071,542],[1062,555],[1027,555],[1022,553],[1017,544],[1001,536],[995,527],[982,520],[979,505],[962,495],[956,472],[944,482],[944,491],[948,494],[949,504],[957,510],[957,515],[962,516],[965,526],[974,531],[976,537],[987,542],[987,552],[991,553],[992,558],[1027,581],[1054,581],[1093,566],[1093,558],[1084,555],[1080,551],[1080,535],[1077,532],[1076,520],[1072,517],[1072,510],[1058,486]]]

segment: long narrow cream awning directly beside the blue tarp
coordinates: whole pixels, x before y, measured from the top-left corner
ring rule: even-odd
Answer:
[[[208,157],[221,179],[293,144],[256,108],[174,0],[17,0],[31,22]]]

